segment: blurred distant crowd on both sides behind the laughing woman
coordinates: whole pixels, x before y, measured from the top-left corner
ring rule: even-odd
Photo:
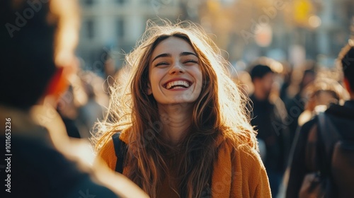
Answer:
[[[102,71],[74,67],[69,88],[59,96],[56,110],[70,137],[91,141],[96,124],[110,120],[107,110],[111,88],[120,83],[126,71],[118,69],[121,66],[115,66],[106,55]],[[342,86],[341,68],[337,64],[321,66],[316,60],[292,65],[287,60],[258,57],[245,69],[237,70],[231,73],[234,83],[249,96],[245,108],[251,112],[272,197],[285,197],[291,156],[301,127],[330,105],[350,100]]]

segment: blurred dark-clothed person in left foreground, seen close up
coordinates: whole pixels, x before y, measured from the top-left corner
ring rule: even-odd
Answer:
[[[89,165],[89,145],[69,139],[55,110],[76,64],[76,1],[4,0],[0,21],[0,197],[147,197],[100,161]]]

